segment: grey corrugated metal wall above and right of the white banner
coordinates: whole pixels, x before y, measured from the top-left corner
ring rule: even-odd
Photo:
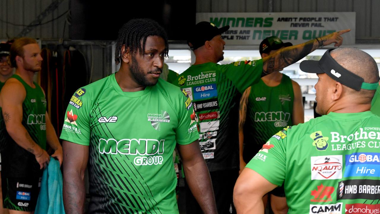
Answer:
[[[380,43],[379,0],[196,0],[198,13],[356,12],[356,39]],[[376,40],[377,39],[377,40]]]

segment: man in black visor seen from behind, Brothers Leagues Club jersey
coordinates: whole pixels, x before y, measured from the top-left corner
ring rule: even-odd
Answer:
[[[356,48],[329,49],[302,61],[317,73],[317,113],[284,128],[252,158],[236,181],[239,213],[263,213],[261,197],[284,185],[289,214],[376,213],[380,209],[380,117],[369,111],[377,64]]]

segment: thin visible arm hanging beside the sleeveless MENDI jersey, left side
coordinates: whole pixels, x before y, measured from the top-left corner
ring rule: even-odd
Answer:
[[[239,174],[244,169],[247,163],[243,160],[243,143],[244,143],[244,123],[245,118],[247,117],[247,104],[249,93],[251,92],[251,87],[245,89],[241,99],[240,99],[240,107],[239,107],[239,157],[240,157],[240,171]]]

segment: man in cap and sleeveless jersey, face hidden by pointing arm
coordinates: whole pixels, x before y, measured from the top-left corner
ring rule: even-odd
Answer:
[[[292,46],[290,42],[283,43],[280,38],[272,36],[260,43],[259,51],[264,58],[289,46]],[[304,122],[301,88],[287,75],[280,73],[280,70],[282,69],[262,77],[258,83],[247,88],[241,97],[239,113],[241,171],[274,133],[286,126]],[[271,115],[271,118],[266,115]],[[270,194],[274,214],[287,213],[288,206],[283,187],[275,188]],[[268,194],[263,197],[264,204],[267,200]]]

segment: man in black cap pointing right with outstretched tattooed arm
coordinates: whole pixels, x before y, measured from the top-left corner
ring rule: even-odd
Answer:
[[[334,32],[322,38],[276,51],[252,62],[220,65],[225,42],[221,34],[229,26],[218,29],[210,22],[199,22],[188,37],[195,63],[179,75],[174,85],[192,92],[191,99],[199,127],[199,144],[210,171],[218,213],[233,209],[232,194],[239,175],[239,101],[241,94],[261,77],[284,68],[322,45],[342,44],[341,34]],[[188,191],[189,192],[189,191]],[[187,194],[187,196],[189,196]],[[188,213],[199,213],[190,196]]]

